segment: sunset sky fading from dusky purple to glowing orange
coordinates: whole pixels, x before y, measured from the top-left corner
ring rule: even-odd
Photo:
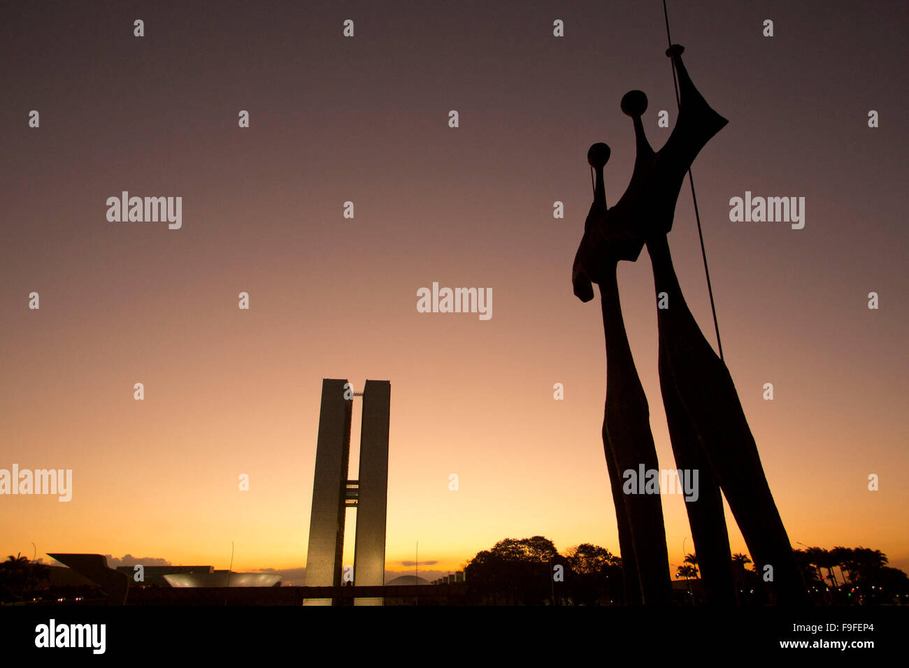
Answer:
[[[694,183],[726,363],[789,537],[907,568],[909,9],[669,12],[694,84],[730,121]],[[73,498],[0,497],[0,554],[226,568],[234,541],[235,571],[305,565],[326,377],[391,382],[388,570],[412,572],[417,541],[435,571],[535,534],[618,554],[602,316],[574,297],[571,266],[589,145],[612,148],[609,204],[631,175],[622,95],[648,95],[654,148],[671,131],[657,127],[661,109],[675,120],[665,48],[655,0],[5,4],[0,468],[72,469]],[[108,222],[122,191],[182,196],[182,228]],[[804,229],[730,222],[745,191],[804,196]],[[715,344],[687,184],[669,240]],[[433,282],[492,288],[492,318],[418,313]],[[620,265],[619,287],[674,468],[647,254]],[[679,564],[694,551],[684,501],[663,504]]]

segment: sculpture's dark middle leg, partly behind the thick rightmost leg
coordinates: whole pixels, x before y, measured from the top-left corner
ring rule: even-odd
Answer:
[[[732,570],[732,553],[729,551],[729,533],[723,512],[720,486],[710,470],[710,463],[697,440],[694,425],[685,412],[681,398],[676,394],[672,366],[664,344],[664,328],[660,328],[660,390],[666,411],[669,439],[673,445],[676,468],[697,471],[695,500],[685,500],[688,523],[694,538],[697,566],[704,583],[704,594],[709,605],[734,606],[735,583]]]

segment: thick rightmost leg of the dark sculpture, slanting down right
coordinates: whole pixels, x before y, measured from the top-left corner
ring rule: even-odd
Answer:
[[[802,574],[732,377],[684,302],[666,238],[648,241],[647,250],[654,264],[656,290],[669,297],[669,308],[657,311],[657,321],[676,392],[742,530],[755,568],[778,603],[808,603]],[[766,569],[768,565],[772,571]],[[766,579],[767,573],[773,573],[772,581]]]

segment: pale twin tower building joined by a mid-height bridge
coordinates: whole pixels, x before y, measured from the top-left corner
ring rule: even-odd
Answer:
[[[355,398],[363,398],[360,472],[348,478],[350,428]],[[391,384],[366,381],[355,393],[346,380],[322,381],[322,408],[315,450],[313,510],[309,522],[306,586],[350,583],[343,563],[345,511],[356,508],[353,583],[385,584],[385,512],[388,496],[388,414]],[[348,569],[349,571],[349,569]],[[328,604],[331,599],[310,599]],[[382,604],[382,599],[355,599],[356,604]]]

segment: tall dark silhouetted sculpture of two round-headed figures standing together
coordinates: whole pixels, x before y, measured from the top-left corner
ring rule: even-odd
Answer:
[[[642,523],[631,513],[629,495],[622,494],[621,484],[616,492],[616,477],[626,470],[622,463],[634,460],[634,457],[641,457],[638,464],[647,465],[653,439],[650,438],[648,445],[640,426],[637,431],[627,426],[639,424],[640,414],[631,414],[625,426],[622,426],[626,420],[623,415],[610,417],[610,387],[632,388],[632,398],[624,403],[643,404],[644,413],[646,400],[643,391],[641,396],[636,394],[640,381],[630,352],[627,360],[624,355],[618,356],[613,364],[609,339],[615,335],[618,340],[612,347],[627,349],[624,327],[616,326],[616,323],[622,323],[622,315],[614,282],[614,258],[634,261],[640,253],[639,244],[646,244],[654,268],[656,293],[658,297],[665,293],[668,298],[668,308],[657,309],[659,375],[675,463],[680,469],[699,472],[698,498],[686,502],[685,506],[707,600],[715,604],[734,603],[732,557],[720,494],[722,488],[754,558],[755,568],[764,575],[775,600],[805,603],[807,594],[802,576],[794,562],[792,547],[766,482],[732,378],[724,362],[704,339],[684,302],[666,240],[666,234],[672,229],[684,174],[704,145],[727,124],[694,87],[682,63],[683,51],[680,45],[672,45],[666,51],[679,75],[681,101],[677,123],[660,151],[654,153],[644,135],[641,116],[647,106],[646,95],[631,91],[622,99],[622,110],[634,122],[637,155],[631,182],[611,209],[606,208],[604,189],[600,187],[608,148],[594,145],[588,153],[588,162],[597,170],[597,189],[594,205],[584,224],[584,237],[574,258],[572,275],[574,294],[584,302],[594,296],[591,282],[600,284],[607,357],[604,447],[619,521],[623,564],[626,563],[625,544],[622,543],[624,522],[629,524],[624,533],[631,535],[634,548],[628,554],[634,560],[643,589],[642,556],[652,548],[644,548],[634,537],[638,533],[652,535],[654,519]],[[606,271],[608,266],[613,266],[612,273]],[[614,380],[616,375],[619,377]],[[622,402],[614,399],[612,405],[620,406]],[[649,425],[646,431],[650,436]],[[624,503],[616,499],[616,494],[624,497]],[[619,517],[623,513],[624,517]],[[659,519],[662,527],[662,512]],[[638,523],[642,523],[640,528]],[[628,543],[627,539],[625,543]],[[654,556],[663,557],[664,551],[663,538],[654,550]],[[644,561],[649,563],[650,560],[645,557]],[[768,565],[772,569],[766,569]],[[767,573],[772,573],[769,581]],[[636,603],[634,591],[628,601]],[[644,596],[643,603],[652,602]]]

